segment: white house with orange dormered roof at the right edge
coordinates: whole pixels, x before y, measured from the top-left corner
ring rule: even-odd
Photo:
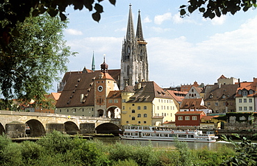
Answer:
[[[253,82],[238,83],[235,102],[236,112],[256,112],[257,78]]]

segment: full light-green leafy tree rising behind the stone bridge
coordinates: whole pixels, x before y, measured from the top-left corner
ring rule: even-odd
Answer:
[[[0,88],[3,97],[49,102],[47,91],[58,72],[65,72],[69,51],[63,40],[66,22],[47,14],[27,17],[17,24],[19,35],[13,36],[10,51],[0,55]]]

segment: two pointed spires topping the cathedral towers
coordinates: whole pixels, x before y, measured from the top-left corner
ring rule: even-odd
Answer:
[[[141,17],[140,17],[140,10],[138,10],[138,25],[137,25],[137,32],[135,35],[134,26],[133,26],[132,9],[131,9],[131,4],[129,4],[128,26],[126,28],[126,40],[131,41],[135,37],[137,40],[144,40],[142,24],[141,24]]]

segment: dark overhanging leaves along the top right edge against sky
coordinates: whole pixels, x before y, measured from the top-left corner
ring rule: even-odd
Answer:
[[[180,6],[180,15],[185,17],[199,10],[203,17],[213,19],[231,13],[235,15],[241,9],[246,12],[249,8],[256,8],[256,0],[189,0],[188,5]]]

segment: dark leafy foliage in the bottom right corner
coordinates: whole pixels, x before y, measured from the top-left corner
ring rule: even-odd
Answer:
[[[240,135],[233,134],[236,138],[239,138],[241,142],[234,142],[231,138],[226,138],[222,135],[225,141],[231,142],[235,147],[235,156],[231,156],[228,160],[225,160],[222,165],[257,165],[257,144],[252,144],[251,140],[242,137]]]

